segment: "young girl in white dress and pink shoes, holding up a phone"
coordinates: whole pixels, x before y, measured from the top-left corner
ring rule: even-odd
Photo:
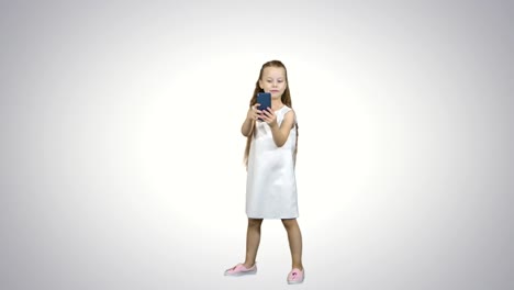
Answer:
[[[255,263],[264,219],[281,219],[288,232],[292,270],[288,283],[303,282],[302,235],[297,222],[298,125],[291,109],[291,94],[286,66],[279,60],[262,65],[241,132],[247,137],[246,259],[225,271],[225,276],[257,272]],[[271,108],[259,111],[257,93],[271,93]],[[260,121],[262,120],[262,121]]]

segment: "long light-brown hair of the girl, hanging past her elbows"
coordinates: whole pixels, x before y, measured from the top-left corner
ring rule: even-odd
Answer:
[[[267,68],[267,67],[281,67],[281,68],[283,68],[283,71],[286,74],[286,90],[282,93],[281,100],[282,100],[283,104],[286,104],[287,107],[292,109],[291,92],[289,91],[288,70],[286,69],[286,66],[280,60],[270,60],[270,62],[262,65],[262,67],[260,68],[259,78],[257,79],[257,81],[255,83],[254,94],[252,96],[249,107],[257,103],[257,93],[264,91],[259,86],[259,80],[262,78],[264,69]],[[256,124],[254,123],[254,127],[252,129],[252,131],[248,134],[248,137],[246,140],[245,158],[244,158],[246,167],[248,167],[248,155],[249,155],[249,149],[250,149],[250,146],[252,146],[252,137],[255,134],[255,126],[256,126]],[[297,140],[295,140],[295,145],[297,146],[295,146],[294,153],[293,153],[293,159],[294,159],[294,163],[295,163],[297,152],[298,152],[298,123],[294,123],[294,126],[297,129]]]

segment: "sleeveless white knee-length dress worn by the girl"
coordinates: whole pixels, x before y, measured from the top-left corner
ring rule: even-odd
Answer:
[[[283,105],[275,111],[279,125],[290,110]],[[281,147],[275,144],[271,129],[266,122],[257,121],[255,133],[248,155],[246,214],[252,219],[295,219],[298,197],[293,153],[297,129],[291,129],[288,141]]]

